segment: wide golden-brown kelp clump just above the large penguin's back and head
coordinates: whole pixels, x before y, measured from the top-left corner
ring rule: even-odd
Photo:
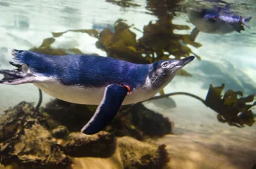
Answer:
[[[125,23],[125,20],[118,19],[115,22],[115,33],[108,28],[100,32],[99,41],[96,42],[97,48],[107,52],[109,57],[115,57],[124,61],[148,64],[150,62],[169,59],[169,55],[175,55],[175,59],[187,57],[193,52],[186,45],[179,43],[180,40],[189,42],[196,47],[199,43],[189,41],[189,36],[173,34],[173,25],[170,21],[150,22],[143,28],[143,36],[137,41],[136,34],[133,33]],[[188,29],[186,26],[177,26],[179,29]],[[164,54],[167,52],[169,55]],[[142,57],[145,54],[145,57]],[[200,57],[196,55],[198,59]],[[182,70],[179,75],[191,77],[189,73]]]

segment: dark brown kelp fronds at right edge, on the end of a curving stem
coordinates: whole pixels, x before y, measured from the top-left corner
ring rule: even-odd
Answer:
[[[247,103],[253,101],[254,95],[238,98],[238,96],[243,96],[243,92],[228,90],[222,97],[221,92],[224,87],[224,84],[220,87],[210,85],[205,105],[218,112],[217,118],[220,122],[228,122],[230,126],[237,127],[244,127],[245,124],[252,126],[255,120],[250,108],[256,105],[256,101],[251,105]]]

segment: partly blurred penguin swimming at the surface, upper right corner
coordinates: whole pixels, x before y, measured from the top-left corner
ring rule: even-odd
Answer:
[[[246,22],[250,21],[252,17],[241,17],[233,15],[232,11],[221,10],[221,8],[214,9],[200,9],[188,8],[189,21],[195,26],[191,31],[190,40],[195,41],[196,36],[200,31],[210,34],[227,34],[233,31],[241,33],[244,31],[244,26],[250,29]]]

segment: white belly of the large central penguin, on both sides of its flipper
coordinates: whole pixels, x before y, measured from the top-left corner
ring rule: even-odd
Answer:
[[[56,80],[51,82],[35,82],[33,84],[54,98],[83,105],[99,105],[104,96],[104,91],[106,88],[86,88],[74,85],[68,86],[63,85]],[[122,105],[129,105],[132,103],[144,101],[156,94],[157,91],[152,89],[134,89],[131,94],[128,94],[125,97]]]

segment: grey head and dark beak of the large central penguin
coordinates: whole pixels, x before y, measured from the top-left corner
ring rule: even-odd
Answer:
[[[149,79],[152,87],[163,89],[173,77],[181,70],[186,64],[193,61],[195,56],[189,56],[181,60],[165,60],[154,62],[149,70]]]

